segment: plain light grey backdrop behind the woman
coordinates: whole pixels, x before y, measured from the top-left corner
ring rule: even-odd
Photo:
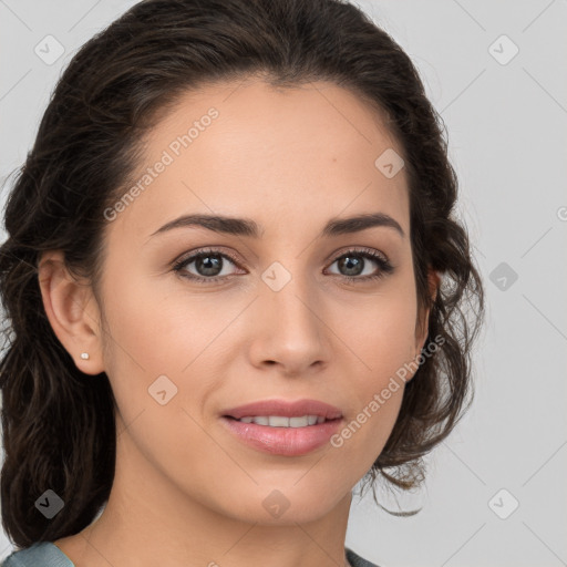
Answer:
[[[76,49],[134,3],[0,0],[0,181]],[[488,305],[473,408],[430,455],[423,489],[378,491],[390,509],[422,512],[355,497],[347,545],[388,567],[567,565],[567,1],[358,3],[410,54],[446,124]],[[51,65],[34,53],[48,34],[65,50]],[[0,557],[10,550],[0,534]]]

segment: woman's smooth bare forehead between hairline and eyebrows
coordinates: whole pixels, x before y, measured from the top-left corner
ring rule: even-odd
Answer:
[[[281,90],[248,80],[187,92],[144,147],[128,185],[136,197],[117,218],[141,238],[182,213],[213,212],[301,228],[380,210],[409,234],[405,171],[389,178],[379,167],[403,150],[379,112],[333,83]]]

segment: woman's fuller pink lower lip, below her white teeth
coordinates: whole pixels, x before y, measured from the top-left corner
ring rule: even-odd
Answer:
[[[270,427],[225,416],[221,421],[240,441],[254,449],[275,455],[299,456],[327,444],[343,420],[341,417],[305,427]]]

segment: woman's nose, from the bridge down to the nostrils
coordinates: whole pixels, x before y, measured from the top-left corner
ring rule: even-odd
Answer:
[[[274,280],[269,276],[275,276]],[[324,301],[313,282],[289,276],[277,266],[264,274],[255,301],[249,355],[257,368],[278,367],[286,375],[305,375],[329,363],[332,333],[324,321]],[[279,285],[272,285],[278,278]]]

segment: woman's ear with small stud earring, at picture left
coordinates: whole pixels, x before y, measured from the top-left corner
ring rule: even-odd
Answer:
[[[61,250],[43,252],[38,277],[43,307],[53,332],[85,374],[104,372],[100,311],[92,288],[66,268]],[[81,358],[82,352],[89,359]]]

